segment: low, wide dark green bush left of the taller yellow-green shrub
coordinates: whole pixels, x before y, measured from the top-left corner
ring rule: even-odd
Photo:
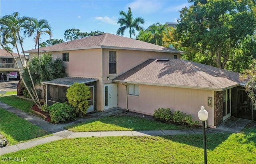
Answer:
[[[67,102],[54,103],[49,107],[51,122],[67,122],[76,119],[75,108]]]

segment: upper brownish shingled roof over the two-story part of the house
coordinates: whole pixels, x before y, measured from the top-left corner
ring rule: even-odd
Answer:
[[[159,45],[154,45],[144,41],[138,41],[119,35],[110,33],[103,33],[101,35],[94,35],[91,37],[85,37],[82,39],[76,39],[74,41],[68,41],[48,47],[42,47],[40,52],[53,52],[53,51],[70,51],[80,49],[126,49],[126,50],[138,50],[138,51],[156,51],[167,53],[184,53],[176,49],[165,48]],[[37,49],[25,51],[25,53],[36,53]]]

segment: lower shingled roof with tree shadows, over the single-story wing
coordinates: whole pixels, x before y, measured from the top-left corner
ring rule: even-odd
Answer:
[[[239,76],[236,72],[182,59],[149,59],[113,81],[222,91],[239,86]]]

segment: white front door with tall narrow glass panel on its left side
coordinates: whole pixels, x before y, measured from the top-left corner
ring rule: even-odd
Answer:
[[[117,84],[104,85],[104,109],[117,107]]]

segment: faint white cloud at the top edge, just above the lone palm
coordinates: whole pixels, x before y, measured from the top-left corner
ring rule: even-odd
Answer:
[[[163,6],[163,3],[161,1],[137,0],[128,4],[126,7],[126,10],[128,10],[128,7],[130,7],[132,12],[136,11],[141,14],[150,14],[160,10],[162,6]]]

